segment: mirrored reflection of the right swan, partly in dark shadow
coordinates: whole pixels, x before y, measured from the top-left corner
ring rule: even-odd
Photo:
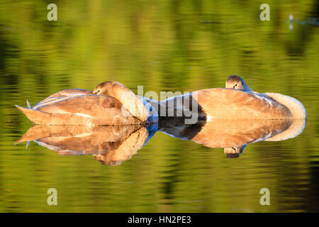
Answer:
[[[159,123],[159,131],[209,148],[224,148],[227,157],[239,157],[250,143],[294,138],[306,127],[306,119],[211,119],[196,125],[185,125],[178,118],[171,118]]]

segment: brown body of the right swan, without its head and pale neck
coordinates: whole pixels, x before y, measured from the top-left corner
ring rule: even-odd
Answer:
[[[178,100],[183,100],[179,102]],[[181,96],[174,96],[159,103],[159,109],[167,102],[174,104],[174,114],[191,112],[198,119],[290,119],[291,111],[283,104],[267,97],[237,89],[203,89]],[[192,104],[188,104],[190,101]],[[168,105],[169,106],[169,105]],[[173,105],[171,105],[173,106]],[[169,108],[167,108],[169,110]],[[161,110],[162,113],[162,110]],[[161,115],[162,116],[162,115]],[[174,115],[176,116],[176,115]]]

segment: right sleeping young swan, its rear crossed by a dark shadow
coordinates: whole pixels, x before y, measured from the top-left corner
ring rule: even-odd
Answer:
[[[170,111],[174,117],[184,118],[191,113],[191,118],[197,118],[198,121],[307,118],[306,109],[300,101],[283,94],[254,92],[238,76],[230,76],[225,88],[202,89],[159,102],[144,99],[152,104],[161,116],[162,113]],[[303,126],[303,122],[300,125]]]

